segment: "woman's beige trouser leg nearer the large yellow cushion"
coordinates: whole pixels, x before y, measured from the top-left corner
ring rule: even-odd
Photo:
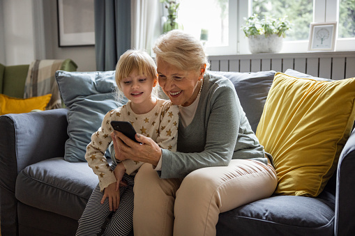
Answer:
[[[174,235],[216,235],[218,214],[271,196],[277,183],[271,164],[246,159],[193,171],[176,192]]]

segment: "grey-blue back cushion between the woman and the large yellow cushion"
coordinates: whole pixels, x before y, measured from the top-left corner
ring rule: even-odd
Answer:
[[[250,73],[216,71],[212,73],[223,75],[232,81],[252,131],[256,132],[276,72],[270,70]]]

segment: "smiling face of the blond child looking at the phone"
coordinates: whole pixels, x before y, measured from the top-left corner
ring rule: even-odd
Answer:
[[[151,76],[137,74],[134,70],[128,77],[123,78],[120,82],[123,94],[132,102],[135,108],[151,108],[153,98],[151,91],[156,86],[157,80]],[[155,100],[154,100],[155,101]],[[132,107],[135,111],[134,107]],[[135,111],[135,113],[144,113],[144,111]]]

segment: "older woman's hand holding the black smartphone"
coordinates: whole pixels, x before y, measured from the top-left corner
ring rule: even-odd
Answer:
[[[135,162],[150,163],[153,166],[158,164],[162,150],[152,139],[135,134],[135,139],[140,142],[136,143],[118,131],[112,132],[111,136],[114,141],[116,159],[132,159]]]

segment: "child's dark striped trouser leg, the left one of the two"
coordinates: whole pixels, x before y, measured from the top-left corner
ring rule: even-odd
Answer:
[[[103,192],[100,191],[100,186],[97,186],[86,204],[82,217],[79,219],[77,236],[98,235],[100,232],[101,226],[103,226],[105,219],[110,213],[108,200],[105,200],[105,203],[101,204],[102,198]]]

